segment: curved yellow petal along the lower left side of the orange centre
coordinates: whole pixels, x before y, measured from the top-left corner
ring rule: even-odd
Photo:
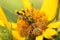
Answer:
[[[19,33],[16,30],[17,24],[16,23],[11,23],[12,24],[12,35],[16,40],[25,40],[24,37],[21,37]]]

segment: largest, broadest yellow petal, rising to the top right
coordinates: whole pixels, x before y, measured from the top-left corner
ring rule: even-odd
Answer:
[[[40,11],[46,14],[48,21],[51,21],[56,16],[57,6],[58,0],[44,0]]]

